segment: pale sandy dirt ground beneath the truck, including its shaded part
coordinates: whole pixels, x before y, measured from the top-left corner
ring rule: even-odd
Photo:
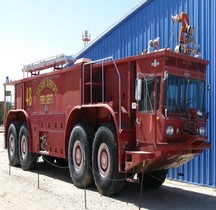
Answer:
[[[216,189],[166,180],[159,189],[144,189],[140,202],[140,184],[127,183],[123,192],[105,197],[95,186],[76,188],[67,168],[47,166],[42,160],[39,170],[23,171],[9,167],[0,132],[0,209],[13,210],[111,210],[111,209],[215,209]]]

